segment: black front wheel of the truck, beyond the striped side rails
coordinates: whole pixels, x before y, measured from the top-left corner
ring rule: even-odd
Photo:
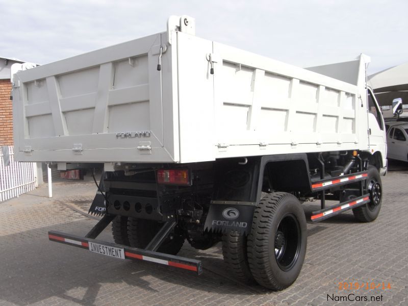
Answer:
[[[370,194],[370,202],[353,209],[354,217],[360,222],[374,221],[381,210],[382,183],[377,168],[369,166],[364,193]]]

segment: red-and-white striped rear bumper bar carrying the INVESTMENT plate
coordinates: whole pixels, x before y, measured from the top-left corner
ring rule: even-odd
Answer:
[[[202,273],[201,261],[195,260],[195,259],[189,259],[185,257],[174,256],[174,255],[160,253],[160,252],[143,250],[143,249],[139,249],[135,247],[124,246],[120,244],[65,234],[65,233],[56,232],[56,231],[49,231],[48,239],[50,241],[60,242],[60,243],[80,247],[83,249],[88,249],[88,250],[91,250],[90,244],[101,245],[103,248],[107,250],[111,250],[110,247],[116,248],[116,251],[119,251],[119,253],[120,253],[120,250],[123,249],[124,254],[121,257],[122,259],[145,260],[145,261],[154,262],[154,263],[158,263],[158,264],[162,264],[166,266],[171,266],[171,267],[193,271],[193,272],[196,272],[198,275]],[[110,256],[110,257],[114,257],[114,256]],[[116,256],[116,258],[120,258],[120,257]]]

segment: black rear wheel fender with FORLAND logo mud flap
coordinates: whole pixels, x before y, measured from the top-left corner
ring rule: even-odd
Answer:
[[[205,224],[207,230],[247,234],[263,190],[311,191],[306,154],[220,159],[215,169],[214,196]]]

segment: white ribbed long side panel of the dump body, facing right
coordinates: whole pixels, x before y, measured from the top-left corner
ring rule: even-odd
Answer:
[[[217,157],[359,148],[359,87],[219,43],[214,53]]]

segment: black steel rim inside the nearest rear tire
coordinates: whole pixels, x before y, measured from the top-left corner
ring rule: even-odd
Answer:
[[[274,237],[274,254],[279,268],[290,270],[299,257],[301,244],[300,224],[296,216],[286,214],[281,218]]]

